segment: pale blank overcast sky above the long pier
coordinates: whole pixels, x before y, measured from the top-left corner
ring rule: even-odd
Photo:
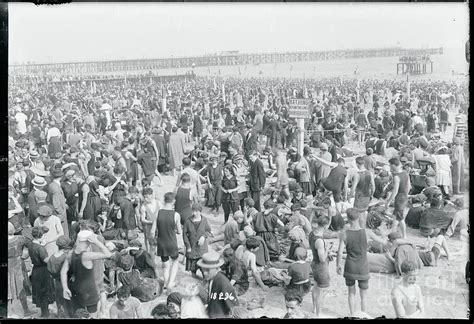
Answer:
[[[396,46],[464,50],[462,3],[9,3],[10,63]]]

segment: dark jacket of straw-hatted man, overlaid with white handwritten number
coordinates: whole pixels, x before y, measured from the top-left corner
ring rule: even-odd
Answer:
[[[239,306],[237,294],[229,279],[218,272],[209,289],[207,311],[209,318],[225,318],[229,316],[230,310]]]

